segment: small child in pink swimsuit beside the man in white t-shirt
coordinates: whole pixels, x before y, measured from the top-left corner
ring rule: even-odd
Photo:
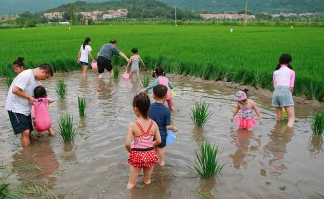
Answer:
[[[47,98],[46,89],[43,86],[37,86],[34,89],[34,104],[32,107],[32,116],[34,126],[37,132],[41,134],[48,131],[50,136],[54,133],[51,131],[51,118],[49,117],[49,104],[54,102],[53,99]]]

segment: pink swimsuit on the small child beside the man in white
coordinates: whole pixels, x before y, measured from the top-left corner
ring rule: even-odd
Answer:
[[[51,98],[37,98],[32,107],[32,116],[37,131],[47,131],[51,126],[51,118],[49,117],[49,103],[54,100]]]

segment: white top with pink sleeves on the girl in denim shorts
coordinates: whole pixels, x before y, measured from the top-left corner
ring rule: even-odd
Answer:
[[[273,86],[294,87],[295,71],[285,65],[281,65],[279,70],[273,73]]]

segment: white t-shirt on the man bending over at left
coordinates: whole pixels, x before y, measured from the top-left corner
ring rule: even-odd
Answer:
[[[33,96],[34,89],[37,86],[37,80],[31,69],[24,70],[12,82],[7,96],[6,110],[14,113],[30,115],[31,105],[28,100],[12,93],[13,86],[21,88],[26,94]]]

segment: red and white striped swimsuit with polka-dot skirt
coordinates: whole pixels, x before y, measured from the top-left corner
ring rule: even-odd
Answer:
[[[135,144],[131,148],[131,153],[128,156],[128,164],[132,167],[148,168],[153,167],[158,162],[158,156],[153,147],[153,139],[155,135],[149,134],[154,124],[150,120],[147,131],[145,132],[140,122],[135,122],[140,129],[142,135],[135,136]]]

